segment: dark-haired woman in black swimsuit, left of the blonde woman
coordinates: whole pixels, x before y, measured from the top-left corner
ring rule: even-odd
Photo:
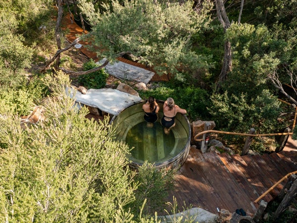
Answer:
[[[159,106],[156,103],[156,100],[154,97],[150,96],[148,98],[148,101],[143,105],[143,110],[145,111],[145,120],[148,122],[147,126],[151,128],[153,126],[153,123],[158,120],[158,112],[159,112]]]

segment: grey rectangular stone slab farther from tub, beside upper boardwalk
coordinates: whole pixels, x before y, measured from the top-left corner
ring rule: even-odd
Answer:
[[[97,63],[101,65],[105,61],[106,58],[101,59]],[[148,84],[154,75],[154,72],[121,61],[116,61],[113,64],[108,63],[105,66],[105,69],[110,75],[115,76],[118,79],[143,82],[145,84]]]

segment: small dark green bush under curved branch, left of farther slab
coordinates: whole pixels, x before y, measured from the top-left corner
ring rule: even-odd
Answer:
[[[84,63],[83,69],[86,71],[97,66],[98,64],[96,64],[95,61],[91,59],[89,62]],[[80,75],[78,81],[88,89],[100,89],[105,87],[108,76],[109,74],[105,71],[104,68],[102,68],[93,73]]]

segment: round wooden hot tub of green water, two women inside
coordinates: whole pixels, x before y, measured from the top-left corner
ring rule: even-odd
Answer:
[[[142,106],[144,102],[132,105],[113,116],[111,123],[116,127],[116,140],[125,141],[131,150],[128,154],[131,167],[138,168],[145,161],[156,168],[178,168],[189,154],[191,126],[186,115],[177,113],[175,127],[164,133],[160,120],[163,116],[163,102],[157,101],[160,111],[153,127],[147,127]]]

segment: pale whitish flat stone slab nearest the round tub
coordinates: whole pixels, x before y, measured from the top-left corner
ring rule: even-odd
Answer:
[[[68,90],[70,97],[74,97],[76,102],[113,115],[118,115],[127,107],[142,101],[140,97],[110,88],[89,89],[86,94],[74,89],[66,89],[66,92]]]

